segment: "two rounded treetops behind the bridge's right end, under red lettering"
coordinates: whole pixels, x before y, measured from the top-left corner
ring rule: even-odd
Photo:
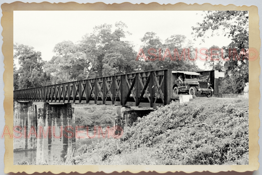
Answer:
[[[194,59],[195,53],[193,50],[193,43],[190,40],[186,40],[184,35],[172,35],[163,42],[155,33],[147,32],[143,38],[143,51],[148,57],[145,61],[144,58],[140,57],[139,64],[142,71],[157,70],[157,69],[172,69],[172,70],[183,70],[183,71],[197,71],[198,67],[195,62],[188,60],[188,48],[190,49],[190,58]],[[149,49],[150,53],[148,53]],[[183,48],[185,48],[185,58],[182,55]],[[169,49],[170,54],[166,49]],[[176,60],[175,60],[175,49],[177,49]],[[154,54],[154,55],[153,55]],[[142,53],[140,53],[142,55]],[[165,56],[166,55],[166,56]],[[170,55],[170,57],[167,57]],[[181,61],[178,57],[182,58]],[[185,60],[186,61],[185,61]]]

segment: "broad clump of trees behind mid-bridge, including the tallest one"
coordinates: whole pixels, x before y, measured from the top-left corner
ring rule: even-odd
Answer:
[[[84,35],[78,43],[56,44],[56,56],[44,65],[52,84],[135,71],[133,46],[123,40],[130,35],[127,26],[120,21],[115,28],[112,32],[112,25],[95,26],[93,33]]]

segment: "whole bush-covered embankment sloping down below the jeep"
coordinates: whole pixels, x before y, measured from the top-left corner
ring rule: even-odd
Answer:
[[[171,103],[125,128],[121,140],[82,146],[74,164],[248,164],[248,100]]]

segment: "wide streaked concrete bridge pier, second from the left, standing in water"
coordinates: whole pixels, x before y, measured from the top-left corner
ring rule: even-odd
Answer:
[[[44,104],[37,116],[37,164],[56,164],[66,160],[76,147],[74,108],[71,104]],[[44,134],[43,134],[44,132]]]

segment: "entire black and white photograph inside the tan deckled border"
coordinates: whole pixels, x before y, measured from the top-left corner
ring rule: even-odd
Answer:
[[[14,11],[13,164],[249,165],[251,51],[249,11]]]

